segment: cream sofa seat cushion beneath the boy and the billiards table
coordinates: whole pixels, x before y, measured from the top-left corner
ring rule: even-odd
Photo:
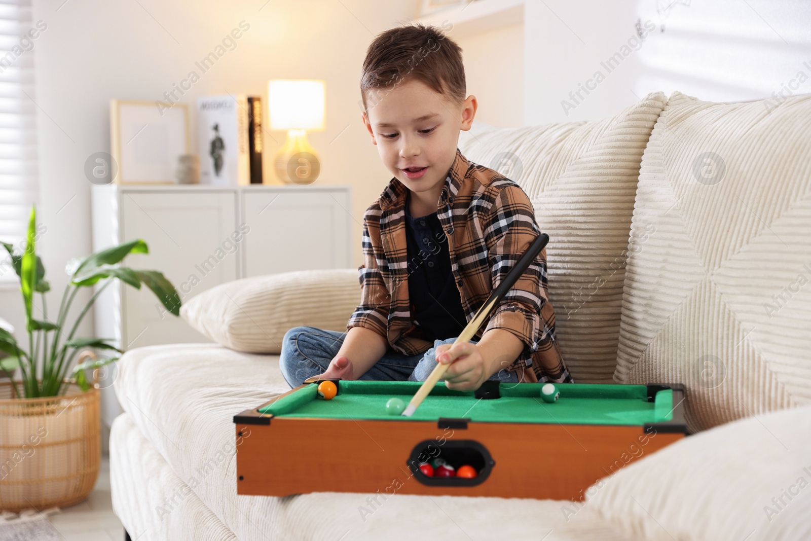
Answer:
[[[393,532],[397,539],[448,541],[633,539],[617,535],[613,526],[590,510],[573,513],[572,502],[558,500],[395,494],[380,499],[381,505],[372,509],[367,500],[370,495],[359,493],[237,496],[232,417],[289,389],[281,379],[277,356],[238,353],[216,344],[178,344],[130,350],[118,364],[114,388],[129,420],[114,427],[123,429],[131,423],[155,453],[143,454],[148,464],[131,466],[127,462],[141,460],[142,453],[115,449],[128,439],[112,437],[111,456],[126,457],[113,466],[131,468],[132,474],[149,472],[150,476],[156,470],[161,479],[171,481],[167,487],[174,492],[165,494],[170,501],[173,494],[178,501],[193,493],[242,541],[387,539]],[[132,437],[139,449],[147,447]],[[323,442],[314,440],[313,444]],[[115,479],[122,475],[127,473],[111,472]],[[178,488],[178,483],[187,487]],[[123,490],[136,485],[137,479],[117,484]],[[148,486],[144,481],[144,490]],[[161,505],[167,505],[162,500],[164,493],[155,487],[148,490],[152,492],[144,498],[151,499],[149,508],[157,513]],[[114,494],[118,502],[127,497],[134,498]],[[183,500],[177,505],[185,509],[193,504]],[[371,514],[362,513],[363,509]],[[196,512],[206,516],[203,509]]]

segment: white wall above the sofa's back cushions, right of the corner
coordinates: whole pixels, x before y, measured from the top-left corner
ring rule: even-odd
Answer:
[[[811,92],[804,0],[527,0],[524,33],[526,125],[603,118],[648,92],[707,101]],[[581,85],[593,89],[578,97]]]

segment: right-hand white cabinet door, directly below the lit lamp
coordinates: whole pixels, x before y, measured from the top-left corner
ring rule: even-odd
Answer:
[[[351,266],[349,191],[242,192],[245,276]]]

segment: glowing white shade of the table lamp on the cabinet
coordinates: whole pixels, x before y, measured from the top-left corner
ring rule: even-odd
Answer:
[[[268,83],[271,130],[324,131],[324,81],[276,79]]]

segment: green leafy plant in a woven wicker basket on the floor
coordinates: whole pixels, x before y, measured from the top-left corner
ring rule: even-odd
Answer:
[[[146,243],[138,239],[69,261],[70,280],[52,318],[45,304],[50,286],[36,255],[36,208],[31,209],[24,251],[2,245],[19,276],[28,348],[0,327],[0,351],[7,355],[0,359],[0,369],[8,376],[0,381],[0,510],[73,505],[92,491],[101,464],[97,370],[122,353],[112,339],[76,337],[76,329],[99,294],[116,280],[136,289],[147,286],[175,316],[180,297],[163,274],[122,266],[127,255],[148,253]],[[69,324],[76,293],[91,286],[97,286],[95,293]],[[37,293],[40,303],[35,303]],[[87,348],[105,354],[97,358]],[[73,366],[77,354],[79,363]],[[93,371],[92,384],[85,375],[88,369]],[[20,377],[15,380],[17,370]]]

